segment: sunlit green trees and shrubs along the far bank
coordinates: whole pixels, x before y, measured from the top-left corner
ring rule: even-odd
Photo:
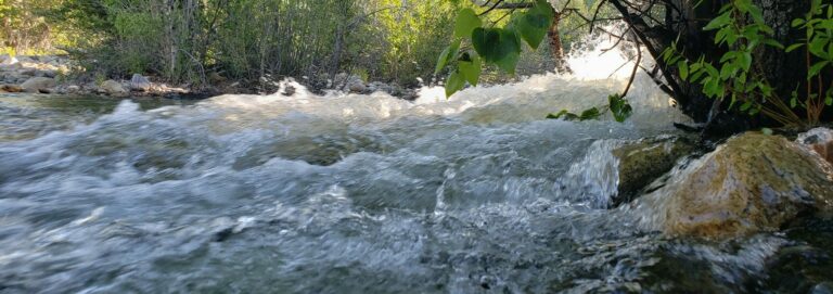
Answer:
[[[431,80],[470,1],[2,0],[11,54],[68,53],[90,79],[133,73],[195,87],[283,77],[325,87],[338,73],[413,86]],[[527,54],[537,73],[548,52]],[[474,68],[474,67],[471,67]],[[495,71],[487,80],[500,79]]]

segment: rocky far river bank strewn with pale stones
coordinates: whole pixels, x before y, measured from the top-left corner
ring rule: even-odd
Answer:
[[[282,86],[283,77],[261,77],[257,82],[233,80],[221,74],[212,73],[200,85],[169,85],[155,77],[133,74],[130,78],[90,77],[77,62],[61,55],[9,56],[0,55],[0,93],[81,94],[113,98],[164,97],[176,99],[205,99],[220,94],[269,94],[282,91],[294,93],[293,87]],[[295,79],[290,79],[295,81]],[[335,75],[325,84],[307,82],[307,77],[297,80],[313,92],[342,91],[358,94],[385,92],[393,97],[412,101],[416,89],[395,82],[366,81],[348,74]]]

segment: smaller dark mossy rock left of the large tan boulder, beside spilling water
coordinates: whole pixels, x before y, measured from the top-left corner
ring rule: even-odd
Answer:
[[[626,143],[612,151],[618,158],[619,181],[613,206],[630,202],[642,188],[668,172],[677,161],[694,151],[694,144],[679,137],[651,138]]]

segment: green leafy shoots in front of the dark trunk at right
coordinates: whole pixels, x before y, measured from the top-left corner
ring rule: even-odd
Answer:
[[[820,18],[825,9],[826,18]],[[807,39],[804,43],[793,44],[785,50],[789,52],[803,46],[807,47],[808,80],[829,66],[830,59],[833,57],[831,16],[833,7],[822,5],[821,0],[813,0],[812,11],[807,14],[807,18],[793,22],[793,26],[807,29]],[[726,49],[726,53],[717,63],[706,60],[704,55],[691,61],[683,56],[676,43],[667,48],[662,57],[667,64],[677,66],[680,78],[700,84],[707,97],[718,100],[729,98],[729,108],[741,103],[741,112],[749,115],[760,113],[784,125],[817,125],[824,105],[833,103],[831,90],[823,92],[822,85],[819,85],[818,92],[813,92],[811,81],[808,82],[804,102],[799,101],[797,91],[793,92],[791,105],[786,105],[785,100],[778,97],[777,89],[767,80],[765,69],[755,64],[754,56],[765,47],[777,50],[784,50],[784,47],[772,39],[772,28],[764,22],[760,9],[751,0],[733,0],[723,5],[704,30],[714,30],[715,43]],[[817,62],[812,63],[811,60]],[[804,119],[793,110],[798,105],[806,111]]]

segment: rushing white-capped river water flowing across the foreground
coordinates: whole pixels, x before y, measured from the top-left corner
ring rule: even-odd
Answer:
[[[710,243],[603,208],[611,148],[685,118],[645,77],[626,124],[542,117],[624,85],[0,97],[0,293],[830,293],[829,223]]]

